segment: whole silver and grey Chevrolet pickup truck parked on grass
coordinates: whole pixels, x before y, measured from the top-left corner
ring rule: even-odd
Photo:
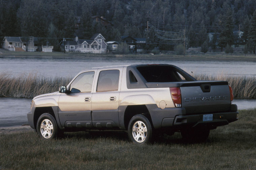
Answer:
[[[169,64],[98,67],[79,72],[59,92],[33,98],[29,125],[45,139],[64,131],[123,130],[135,144],[181,132],[205,141],[237,120],[227,81],[198,81]]]

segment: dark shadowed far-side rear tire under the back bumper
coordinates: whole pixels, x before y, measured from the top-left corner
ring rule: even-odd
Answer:
[[[181,135],[183,140],[186,142],[204,142],[210,133],[210,129],[183,129],[181,130]]]

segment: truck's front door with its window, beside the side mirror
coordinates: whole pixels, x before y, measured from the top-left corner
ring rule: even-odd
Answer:
[[[59,98],[62,127],[92,127],[91,99],[94,71],[79,74],[70,84],[70,94]]]

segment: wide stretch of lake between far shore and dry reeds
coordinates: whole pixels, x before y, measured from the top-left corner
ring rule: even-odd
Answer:
[[[0,73],[13,76],[37,74],[45,77],[74,77],[81,70],[123,64],[164,63],[176,65],[188,73],[231,76],[256,76],[256,62],[177,60],[138,57],[0,57]]]

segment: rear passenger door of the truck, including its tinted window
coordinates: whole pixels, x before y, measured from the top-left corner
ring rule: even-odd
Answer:
[[[99,78],[92,94],[93,126],[119,126],[118,106],[122,70],[98,70],[97,75]]]

